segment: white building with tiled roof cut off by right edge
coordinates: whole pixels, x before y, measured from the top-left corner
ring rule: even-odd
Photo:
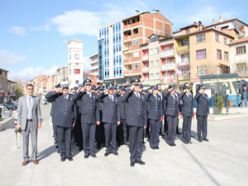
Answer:
[[[230,45],[230,71],[240,77],[248,77],[248,37],[233,41]]]

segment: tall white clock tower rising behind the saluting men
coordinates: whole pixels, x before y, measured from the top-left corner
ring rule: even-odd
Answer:
[[[70,88],[83,82],[83,42],[68,42],[68,76]]]

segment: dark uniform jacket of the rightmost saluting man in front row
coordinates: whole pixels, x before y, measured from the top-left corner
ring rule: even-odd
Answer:
[[[209,113],[208,95],[200,94],[199,92],[195,95],[194,99],[197,102],[196,115],[207,116]]]

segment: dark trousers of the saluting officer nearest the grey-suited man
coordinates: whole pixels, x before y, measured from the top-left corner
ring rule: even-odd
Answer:
[[[71,157],[71,128],[57,126],[57,140],[61,156]]]

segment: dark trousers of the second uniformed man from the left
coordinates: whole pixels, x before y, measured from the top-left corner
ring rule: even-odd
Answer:
[[[95,154],[95,134],[96,124],[95,123],[83,123],[83,144],[85,155]]]

